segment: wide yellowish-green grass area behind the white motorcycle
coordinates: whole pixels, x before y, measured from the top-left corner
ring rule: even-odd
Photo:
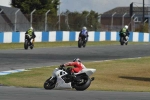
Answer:
[[[104,62],[85,62],[95,68],[95,80],[88,90],[150,92],[150,57]],[[0,76],[0,84],[17,87],[43,88],[44,81],[57,66]]]

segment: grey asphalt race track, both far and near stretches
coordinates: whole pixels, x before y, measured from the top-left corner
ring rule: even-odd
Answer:
[[[82,62],[150,56],[150,45],[110,45],[0,50],[0,71]],[[92,67],[92,66],[88,66]],[[44,90],[0,86],[0,100],[149,100],[149,92]]]

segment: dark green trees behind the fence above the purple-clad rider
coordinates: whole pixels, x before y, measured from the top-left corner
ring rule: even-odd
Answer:
[[[69,13],[68,13],[69,12]],[[82,29],[83,26],[86,26],[88,28],[88,30],[98,30],[98,28],[100,27],[99,23],[98,23],[98,16],[99,14],[96,13],[95,11],[83,11],[82,13],[79,12],[70,12],[69,10],[66,10],[66,12],[68,13],[68,23],[70,26],[70,30],[72,31],[80,31]],[[86,16],[87,17],[87,23],[86,23]],[[62,24],[63,22],[61,22]],[[62,27],[63,30],[67,30],[65,29],[65,25],[62,25],[64,27]]]

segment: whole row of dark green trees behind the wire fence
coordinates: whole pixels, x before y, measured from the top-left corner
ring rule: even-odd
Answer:
[[[30,13],[36,9],[34,15],[42,15],[50,10],[48,16],[48,26],[53,30],[58,29],[58,11],[59,11],[59,0],[11,0],[11,6],[14,8],[19,8],[23,14],[26,15],[28,20],[30,20]],[[28,15],[28,16],[27,16]],[[88,16],[87,16],[88,15]],[[86,26],[89,30],[99,30],[100,25],[98,22],[99,15],[97,12],[91,11],[82,11],[82,12],[70,12],[66,10],[65,12],[61,12],[61,22],[60,22],[60,30],[70,30],[70,31],[78,31],[83,26]],[[36,17],[33,19],[34,22],[42,21],[41,17]],[[34,24],[37,26],[38,24]],[[39,25],[42,25],[39,23]],[[38,25],[38,27],[40,27]],[[42,27],[42,26],[41,26]]]

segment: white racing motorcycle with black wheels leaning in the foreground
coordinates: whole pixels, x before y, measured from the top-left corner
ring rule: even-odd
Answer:
[[[90,76],[96,71],[96,69],[86,68],[82,69],[79,73],[74,73],[76,79],[69,77],[68,68],[55,68],[52,76],[44,82],[44,88],[46,90],[51,89],[76,89],[77,91],[84,91],[94,80],[94,77]]]

